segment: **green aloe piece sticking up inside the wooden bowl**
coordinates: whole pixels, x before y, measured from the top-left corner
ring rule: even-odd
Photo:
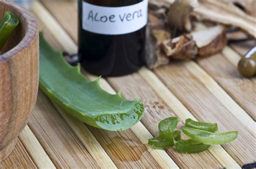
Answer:
[[[2,20],[0,20],[0,50],[18,24],[19,19],[14,13],[9,11],[4,13]]]

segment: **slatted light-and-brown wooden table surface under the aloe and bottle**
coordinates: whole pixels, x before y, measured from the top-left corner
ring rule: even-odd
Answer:
[[[56,50],[77,51],[77,4],[41,1],[32,8],[39,27]],[[255,41],[226,46],[212,57],[176,62],[150,71],[107,78],[100,85],[110,93],[122,89],[127,99],[139,96],[145,116],[122,132],[99,130],[65,114],[39,91],[29,124],[0,168],[238,168],[256,160],[256,80],[245,79],[236,65]],[[95,76],[85,73],[89,79]],[[151,150],[147,140],[158,135],[161,119],[177,116],[217,122],[219,131],[237,130],[229,144],[205,152],[180,154],[173,148]],[[184,124],[180,124],[180,129]]]

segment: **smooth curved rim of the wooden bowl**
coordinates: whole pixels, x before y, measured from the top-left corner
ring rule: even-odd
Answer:
[[[10,6],[12,9],[15,9],[19,13],[19,15],[25,18],[23,24],[25,24],[26,26],[26,32],[22,40],[15,47],[0,55],[0,62],[10,60],[13,56],[17,55],[19,52],[29,47],[33,39],[38,36],[37,20],[30,11],[25,9],[23,6],[11,1],[0,1],[0,5],[1,4],[6,4]]]

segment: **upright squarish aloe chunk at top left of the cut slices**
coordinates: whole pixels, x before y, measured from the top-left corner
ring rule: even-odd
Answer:
[[[177,117],[169,117],[169,118],[163,119],[158,124],[159,137],[172,139],[172,132],[176,128],[179,122],[180,122],[180,119]]]

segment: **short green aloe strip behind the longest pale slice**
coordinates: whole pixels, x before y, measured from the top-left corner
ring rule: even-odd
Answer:
[[[197,122],[197,121],[193,121],[191,118],[186,119],[185,126],[188,128],[194,128],[194,129],[205,130],[210,132],[214,132],[218,130],[218,126],[216,123]]]

